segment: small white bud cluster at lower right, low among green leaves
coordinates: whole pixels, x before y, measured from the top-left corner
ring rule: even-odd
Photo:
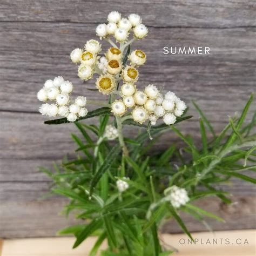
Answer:
[[[172,206],[175,208],[185,205],[190,200],[190,198],[187,196],[187,191],[185,188],[180,188],[174,185],[167,188],[167,190],[169,192],[167,199],[170,200]]]

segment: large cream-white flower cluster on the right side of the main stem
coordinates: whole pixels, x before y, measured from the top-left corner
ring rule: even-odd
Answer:
[[[112,103],[113,114],[123,116],[128,108],[132,108],[132,118],[140,124],[150,120],[152,125],[156,125],[157,120],[163,118],[166,125],[172,125],[186,109],[185,103],[173,92],[169,91],[163,96],[152,84],[140,91],[133,83],[125,82],[121,93],[122,99]]]

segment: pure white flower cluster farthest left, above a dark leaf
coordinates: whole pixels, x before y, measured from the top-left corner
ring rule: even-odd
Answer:
[[[78,117],[85,117],[87,114],[86,97],[79,96],[75,103],[70,104],[70,93],[73,91],[73,85],[63,77],[55,77],[53,80],[47,80],[44,87],[38,91],[37,98],[46,102],[55,100],[56,103],[44,103],[39,107],[39,112],[49,117],[66,117],[70,122],[75,122]]]

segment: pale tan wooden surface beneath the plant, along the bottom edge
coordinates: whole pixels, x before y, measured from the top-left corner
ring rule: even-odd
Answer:
[[[192,234],[198,239],[196,244],[189,244],[185,234],[162,234],[164,246],[167,249],[176,248],[177,253],[172,255],[183,256],[254,256],[255,255],[255,230],[221,231],[215,233],[201,232]],[[72,250],[74,238],[32,238],[5,240],[2,256],[86,256],[96,242],[97,237],[87,238],[79,247]],[[227,240],[225,240],[227,239]],[[209,241],[206,245],[205,243]],[[214,241],[215,244],[213,244]],[[183,244],[183,242],[186,242]],[[229,244],[228,244],[229,242]],[[248,242],[248,244],[247,244]],[[202,244],[204,243],[204,244]],[[104,250],[106,241],[100,247]]]

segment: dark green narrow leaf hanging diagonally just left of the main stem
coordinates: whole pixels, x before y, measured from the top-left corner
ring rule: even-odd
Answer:
[[[93,176],[90,186],[90,195],[92,194],[95,186],[97,185],[99,179],[103,176],[103,174],[109,169],[109,167],[112,166],[114,160],[118,156],[120,152],[120,146],[117,144],[112,148],[112,150],[109,152],[109,154],[106,156],[105,160],[103,161],[103,164],[100,165],[98,171],[96,172],[95,176]]]

